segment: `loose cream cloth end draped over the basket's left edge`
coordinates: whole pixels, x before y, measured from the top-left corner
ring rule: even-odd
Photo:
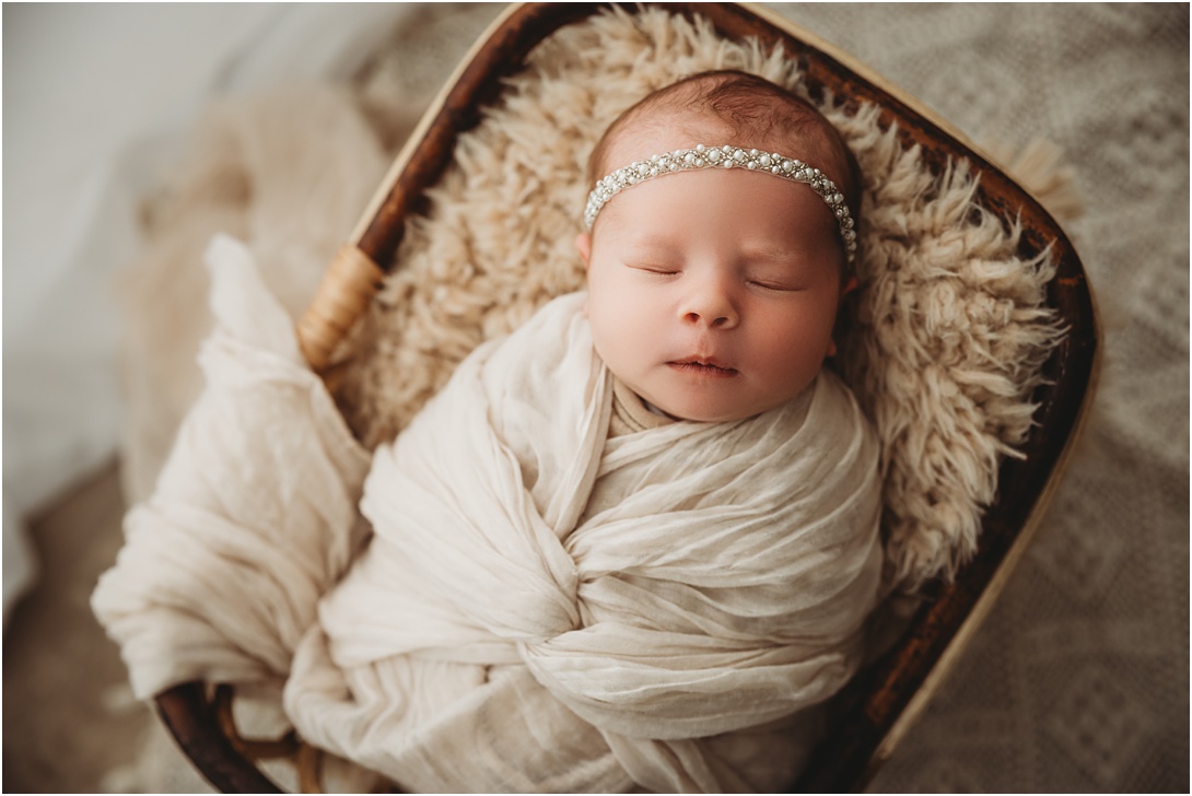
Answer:
[[[219,236],[207,266],[206,387],[92,596],[141,698],[199,678],[280,682],[366,535],[356,500],[370,456],[252,253]]]

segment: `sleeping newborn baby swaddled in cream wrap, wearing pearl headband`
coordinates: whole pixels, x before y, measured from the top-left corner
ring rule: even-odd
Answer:
[[[286,711],[414,790],[774,790],[881,598],[877,443],[822,367],[856,166],[720,71],[629,108],[590,172],[588,290],[377,450]]]

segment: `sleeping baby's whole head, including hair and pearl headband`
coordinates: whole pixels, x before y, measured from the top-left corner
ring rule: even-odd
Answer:
[[[861,182],[819,111],[760,77],[703,73],[621,114],[589,173],[576,245],[592,340],[617,378],[693,421],[750,417],[811,384],[855,285]]]

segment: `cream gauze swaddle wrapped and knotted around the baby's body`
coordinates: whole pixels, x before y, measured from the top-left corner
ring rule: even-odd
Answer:
[[[638,784],[722,790],[747,781],[695,739],[786,719],[853,671],[881,548],[876,443],[848,391],[824,374],[757,418],[607,440],[583,300],[478,349],[377,452],[375,536],[287,685],[299,732],[409,782],[389,750],[420,727],[375,684],[417,683],[402,701],[433,715],[486,666],[523,667],[519,690],[596,727]],[[491,690],[495,715],[528,713]]]

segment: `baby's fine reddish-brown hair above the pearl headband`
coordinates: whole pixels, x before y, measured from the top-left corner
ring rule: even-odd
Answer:
[[[819,110],[784,88],[744,71],[701,71],[660,88],[621,113],[596,144],[588,162],[588,182],[627,163],[608,163],[619,136],[635,125],[673,126],[671,114],[696,112],[725,124],[733,143],[772,148],[824,170],[837,182],[855,220],[861,213],[861,169],[857,160]],[[659,118],[652,118],[657,114]],[[645,157],[656,153],[639,153]]]

